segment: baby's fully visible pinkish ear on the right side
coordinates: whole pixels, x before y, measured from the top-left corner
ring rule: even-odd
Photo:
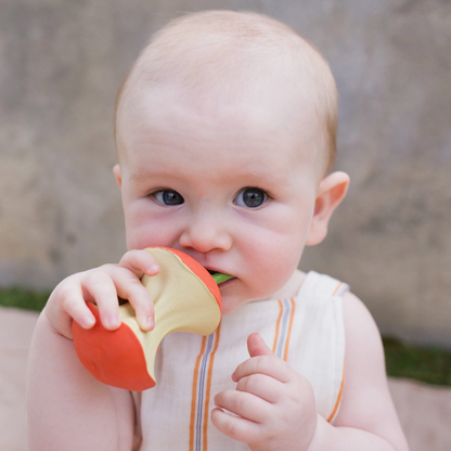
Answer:
[[[307,246],[319,244],[325,239],[331,216],[345,198],[348,186],[349,176],[345,172],[333,172],[321,180],[314,202],[313,218],[307,235]]]

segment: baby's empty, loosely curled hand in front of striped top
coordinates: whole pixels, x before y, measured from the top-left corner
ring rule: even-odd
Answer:
[[[236,389],[215,397],[214,425],[253,451],[307,450],[317,427],[311,385],[273,356],[258,334],[249,336],[247,348],[250,359],[232,374]]]

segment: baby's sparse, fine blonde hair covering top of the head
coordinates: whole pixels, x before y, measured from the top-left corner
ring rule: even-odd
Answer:
[[[302,99],[312,103],[325,167],[330,168],[335,160],[337,131],[337,91],[331,69],[320,52],[292,28],[254,12],[192,13],[157,31],[117,93],[117,145],[118,117],[128,112],[124,100],[138,87],[176,83],[199,95],[214,89],[239,91],[243,83],[265,79],[268,70],[284,76],[291,73],[293,89],[300,89]]]

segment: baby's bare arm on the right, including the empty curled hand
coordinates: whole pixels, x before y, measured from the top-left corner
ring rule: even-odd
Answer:
[[[250,359],[232,376],[236,390],[221,391],[215,398],[219,408],[212,411],[215,426],[247,442],[253,451],[407,451],[388,391],[377,327],[349,293],[344,296],[344,317],[346,378],[334,425],[315,413],[307,379],[252,335]]]

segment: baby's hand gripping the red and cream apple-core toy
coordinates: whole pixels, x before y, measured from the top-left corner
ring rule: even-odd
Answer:
[[[119,265],[104,265],[65,279],[50,295],[43,313],[56,333],[72,338],[73,320],[83,328],[95,324],[94,315],[86,305],[90,301],[98,305],[102,325],[114,331],[120,325],[120,297],[133,307],[140,327],[151,331],[154,306],[140,279],[158,272],[159,266],[151,254],[130,250]]]

